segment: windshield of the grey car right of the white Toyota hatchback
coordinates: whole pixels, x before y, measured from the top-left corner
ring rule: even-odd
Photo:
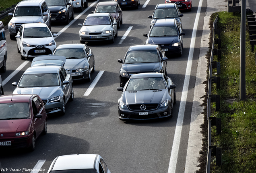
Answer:
[[[60,48],[55,51],[54,55],[66,56],[66,59],[85,58],[85,52],[83,48]]]

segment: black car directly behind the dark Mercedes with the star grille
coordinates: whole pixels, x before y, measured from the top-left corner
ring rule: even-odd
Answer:
[[[120,87],[124,87],[132,74],[157,72],[167,74],[167,60],[165,52],[159,45],[137,45],[130,46],[127,50],[120,68]]]

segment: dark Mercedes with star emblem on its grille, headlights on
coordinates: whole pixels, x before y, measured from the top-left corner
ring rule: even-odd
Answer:
[[[176,85],[163,73],[133,74],[127,84],[118,87],[120,120],[149,120],[172,117],[176,103]]]

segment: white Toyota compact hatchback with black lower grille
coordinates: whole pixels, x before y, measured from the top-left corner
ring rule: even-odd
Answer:
[[[56,49],[54,37],[46,24],[28,23],[22,24],[17,33],[17,49],[21,53],[21,59],[53,54]]]

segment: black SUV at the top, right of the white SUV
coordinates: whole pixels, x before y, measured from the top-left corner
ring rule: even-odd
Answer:
[[[69,24],[74,19],[74,8],[72,0],[45,0],[51,12],[52,22],[65,22]]]

